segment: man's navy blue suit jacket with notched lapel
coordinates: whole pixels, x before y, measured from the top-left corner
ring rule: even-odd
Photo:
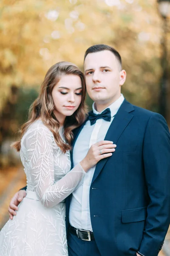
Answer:
[[[84,124],[74,132],[73,147]],[[99,251],[102,256],[134,256],[138,250],[157,256],[170,224],[167,123],[160,114],[125,100],[105,140],[113,141],[116,151],[97,163],[89,199]]]

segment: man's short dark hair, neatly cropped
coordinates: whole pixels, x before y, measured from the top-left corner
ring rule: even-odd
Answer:
[[[89,48],[86,50],[86,52],[85,52],[84,61],[85,61],[86,56],[87,56],[89,53],[101,52],[101,51],[105,51],[105,50],[108,50],[108,51],[112,52],[112,53],[115,55],[117,61],[118,61],[119,64],[120,64],[120,67],[121,67],[121,69],[122,69],[122,58],[121,58],[119,52],[116,51],[116,49],[114,49],[113,47],[111,47],[111,46],[109,46],[109,45],[106,45],[106,44],[95,44],[95,45],[89,47]]]

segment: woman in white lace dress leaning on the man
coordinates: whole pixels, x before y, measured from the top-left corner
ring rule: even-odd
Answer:
[[[0,232],[0,256],[68,256],[64,199],[92,166],[111,156],[100,154],[111,142],[96,143],[70,171],[72,130],[85,118],[83,73],[69,62],[54,64],[21,128],[21,140],[13,144],[20,151],[27,191],[17,215]]]

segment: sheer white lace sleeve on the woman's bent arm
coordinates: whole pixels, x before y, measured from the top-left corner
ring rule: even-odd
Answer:
[[[85,175],[80,164],[56,183],[54,182],[53,135],[45,128],[37,128],[26,137],[31,181],[37,197],[45,207],[54,207],[70,195]]]

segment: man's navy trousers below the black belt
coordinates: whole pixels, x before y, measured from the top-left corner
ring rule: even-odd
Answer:
[[[95,241],[83,241],[70,233],[67,242],[68,256],[101,256]]]

